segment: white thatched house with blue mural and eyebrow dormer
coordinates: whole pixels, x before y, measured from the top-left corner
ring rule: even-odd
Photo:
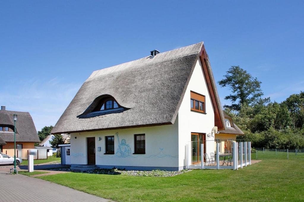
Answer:
[[[190,103],[189,103],[190,100]],[[71,167],[181,170],[231,152],[243,132],[224,114],[203,42],[93,72],[52,134],[71,133]]]

